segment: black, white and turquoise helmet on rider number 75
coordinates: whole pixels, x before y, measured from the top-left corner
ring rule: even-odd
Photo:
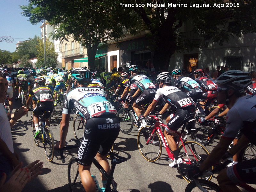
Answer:
[[[88,84],[92,80],[92,72],[82,67],[74,68],[71,72],[71,78],[73,81],[76,79],[80,84]]]

